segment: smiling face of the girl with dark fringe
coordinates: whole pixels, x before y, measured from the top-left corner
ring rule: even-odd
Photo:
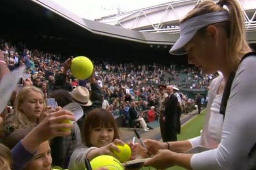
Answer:
[[[95,147],[103,147],[110,144],[114,139],[114,129],[112,127],[92,128],[90,133],[90,143]]]

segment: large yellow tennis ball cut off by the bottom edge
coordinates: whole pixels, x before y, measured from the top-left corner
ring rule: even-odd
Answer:
[[[124,170],[124,167],[118,159],[109,155],[97,156],[90,161],[91,167],[93,170],[96,170],[100,167],[105,167],[108,170]]]

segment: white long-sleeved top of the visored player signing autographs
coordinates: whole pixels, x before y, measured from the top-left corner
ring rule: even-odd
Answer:
[[[236,71],[227,102],[221,142],[216,149],[194,154],[190,162],[193,170],[247,169],[248,154],[256,143],[255,88],[256,57],[250,56],[241,62]]]

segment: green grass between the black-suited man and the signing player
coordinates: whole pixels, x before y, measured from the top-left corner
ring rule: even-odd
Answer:
[[[200,130],[203,129],[204,126],[204,117],[206,114],[206,110],[202,111],[201,114],[193,117],[189,122],[181,127],[181,133],[177,136],[178,140],[186,140],[191,139],[200,135]],[[156,170],[155,168],[143,167],[141,170]],[[171,167],[166,170],[185,170],[182,167]]]

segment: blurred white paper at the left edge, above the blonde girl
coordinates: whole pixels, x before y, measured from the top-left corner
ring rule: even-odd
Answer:
[[[17,87],[17,82],[19,81],[20,77],[23,74],[25,67],[19,67],[3,76],[0,81],[0,114],[6,108],[6,105],[12,96],[12,92]]]

